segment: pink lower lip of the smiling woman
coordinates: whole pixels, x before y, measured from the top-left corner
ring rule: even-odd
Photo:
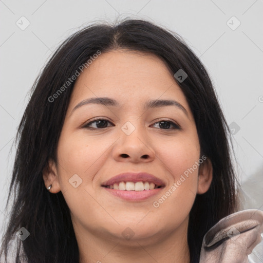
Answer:
[[[143,191],[127,191],[127,190],[115,190],[107,187],[103,187],[110,194],[120,197],[128,201],[139,201],[145,200],[151,196],[158,194],[162,188],[156,188],[153,190],[143,190]]]

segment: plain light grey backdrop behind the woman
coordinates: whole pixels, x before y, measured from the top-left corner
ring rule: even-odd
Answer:
[[[92,21],[126,16],[179,33],[208,69],[233,130],[244,208],[263,210],[262,11],[262,0],[0,1],[1,233],[15,153],[10,149],[37,74],[73,32]]]

